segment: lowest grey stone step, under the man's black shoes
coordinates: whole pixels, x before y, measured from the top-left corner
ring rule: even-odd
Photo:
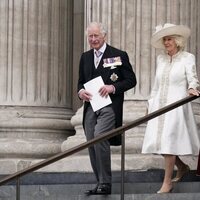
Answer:
[[[200,183],[183,182],[175,185],[168,194],[156,194],[161,183],[135,183],[125,184],[125,197],[127,200],[199,200]],[[117,200],[120,197],[120,185],[114,184],[111,195],[86,196],[85,189],[92,188],[91,184],[67,185],[22,185],[20,187],[20,200]],[[1,200],[15,200],[16,188],[14,185],[0,188]]]

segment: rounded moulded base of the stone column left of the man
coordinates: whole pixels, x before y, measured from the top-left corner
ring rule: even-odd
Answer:
[[[64,108],[2,106],[0,173],[13,173],[32,160],[60,153],[63,141],[75,134],[72,114]]]

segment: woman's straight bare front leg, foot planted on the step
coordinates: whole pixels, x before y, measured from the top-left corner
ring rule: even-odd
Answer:
[[[163,155],[165,159],[165,176],[162,187],[158,193],[168,193],[172,190],[172,174],[174,171],[174,165],[176,156],[174,155]]]

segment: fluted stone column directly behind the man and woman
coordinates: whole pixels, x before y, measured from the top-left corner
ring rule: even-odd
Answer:
[[[158,52],[151,48],[150,40],[157,24],[166,22],[188,25],[192,36],[188,50],[197,56],[200,64],[200,16],[198,0],[87,0],[85,1],[85,28],[91,21],[103,22],[108,29],[109,44],[126,50],[136,73],[138,84],[126,93],[124,103],[124,123],[145,115],[146,100],[150,94],[155,74],[155,59]],[[187,13],[187,14],[186,14]],[[85,38],[85,50],[89,49]],[[198,69],[200,75],[200,71]],[[195,113],[199,115],[199,101],[195,104]],[[196,116],[200,123],[199,116]],[[75,145],[85,141],[81,129],[82,109],[72,118],[77,134],[69,141]],[[126,133],[126,169],[148,169],[163,167],[160,156],[141,155],[145,124]],[[74,139],[73,139],[74,138]],[[79,142],[75,139],[79,138]],[[120,169],[119,147],[113,148],[113,169]],[[189,157],[192,167],[195,159]]]

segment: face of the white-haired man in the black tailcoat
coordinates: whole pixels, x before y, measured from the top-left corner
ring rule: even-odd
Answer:
[[[98,26],[88,28],[88,42],[92,49],[99,50],[105,42],[105,37]]]

